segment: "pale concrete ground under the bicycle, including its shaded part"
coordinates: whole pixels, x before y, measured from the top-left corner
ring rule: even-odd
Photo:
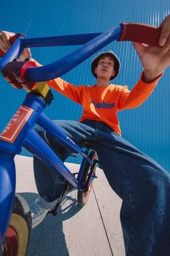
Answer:
[[[33,176],[32,158],[16,156],[17,192],[27,202],[38,197]],[[66,164],[72,171],[79,165]],[[80,208],[76,191],[66,195],[57,216],[49,214],[32,229],[27,256],[124,256],[120,227],[121,200],[109,187],[97,168],[89,201]]]

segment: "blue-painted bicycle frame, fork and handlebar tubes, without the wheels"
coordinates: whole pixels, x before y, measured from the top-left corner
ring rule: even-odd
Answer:
[[[134,27],[134,25],[130,24],[130,27]],[[144,30],[143,26],[141,27],[141,33],[138,31],[138,40],[136,40],[139,42],[141,41],[147,26],[144,27]],[[125,27],[125,30],[127,30],[126,28],[127,27]],[[140,28],[139,25],[137,25],[136,30],[138,30],[138,28]],[[146,33],[148,38],[144,41],[142,38],[142,42],[156,42],[158,45],[158,37],[161,33],[160,30],[155,27],[152,27],[152,29],[151,27],[148,27],[148,29],[149,33]],[[131,33],[130,31],[130,33],[128,33],[130,38],[126,36],[125,39],[121,40],[137,39],[133,34],[134,33]],[[28,81],[40,82],[52,80],[55,77],[60,77],[61,75],[66,74],[66,72],[73,69],[73,67],[79,65],[82,61],[89,58],[89,56],[99,51],[99,49],[104,46],[107,46],[107,44],[113,40],[117,40],[120,36],[122,37],[122,35],[124,35],[122,26],[112,27],[104,33],[65,35],[50,38],[25,39],[24,36],[19,35],[12,47],[5,54],[4,58],[1,59],[0,72],[3,72],[6,64],[9,64],[13,59],[19,57],[22,50],[26,47],[83,45],[71,54],[68,54],[68,56],[63,57],[52,64],[43,67],[28,68],[25,74]],[[24,102],[18,108],[17,112],[0,135],[0,244],[4,241],[6,229],[9,225],[15,194],[16,174],[14,155],[21,152],[22,146],[47,163],[53,171],[61,174],[71,186],[76,189],[81,189],[82,187],[80,182],[82,169],[76,179],[58,156],[55,155],[53,150],[51,150],[40,136],[37,135],[33,129],[35,123],[40,124],[40,126],[47,132],[50,132],[51,135],[57,137],[68,149],[82,155],[84,163],[86,161],[91,163],[84,151],[71,141],[61,129],[58,129],[48,116],[43,114],[42,111],[45,107],[46,103],[44,99],[32,93],[28,93]]]

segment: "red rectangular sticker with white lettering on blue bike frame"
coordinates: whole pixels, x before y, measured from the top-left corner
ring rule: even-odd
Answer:
[[[22,127],[27,122],[34,110],[27,106],[20,106],[12,119],[6,125],[4,130],[1,132],[0,139],[10,143],[14,143],[15,139],[19,135]]]

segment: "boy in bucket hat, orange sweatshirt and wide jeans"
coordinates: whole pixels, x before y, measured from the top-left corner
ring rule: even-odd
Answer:
[[[138,48],[138,44],[135,47]],[[145,54],[142,54],[141,61],[145,62],[143,56]],[[153,64],[147,61],[147,65],[153,67],[156,59]],[[164,72],[163,66],[144,69],[139,82],[130,92],[127,87],[110,84],[109,80],[120,72],[120,61],[113,52],[105,51],[91,63],[91,72],[97,77],[97,85],[75,87],[61,78],[48,82],[50,87],[84,107],[80,122],[55,123],[79,145],[83,145],[86,140],[92,141],[110,186],[122,198],[120,219],[127,255],[133,252],[136,255],[167,255],[170,252],[166,240],[170,237],[167,230],[169,213],[166,212],[170,200],[170,176],[151,158],[120,137],[117,119],[117,111],[135,108],[146,101]],[[55,138],[40,127],[37,132],[60,153]],[[62,179],[43,163],[40,164],[36,157],[34,171],[41,196],[31,205],[32,223],[36,226],[48,210],[54,208],[58,189],[62,189]],[[163,234],[166,234],[164,238]]]

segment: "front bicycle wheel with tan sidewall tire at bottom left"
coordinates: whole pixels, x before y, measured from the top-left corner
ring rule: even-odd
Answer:
[[[15,195],[12,218],[2,246],[2,256],[25,256],[31,229],[30,207],[23,197]]]

